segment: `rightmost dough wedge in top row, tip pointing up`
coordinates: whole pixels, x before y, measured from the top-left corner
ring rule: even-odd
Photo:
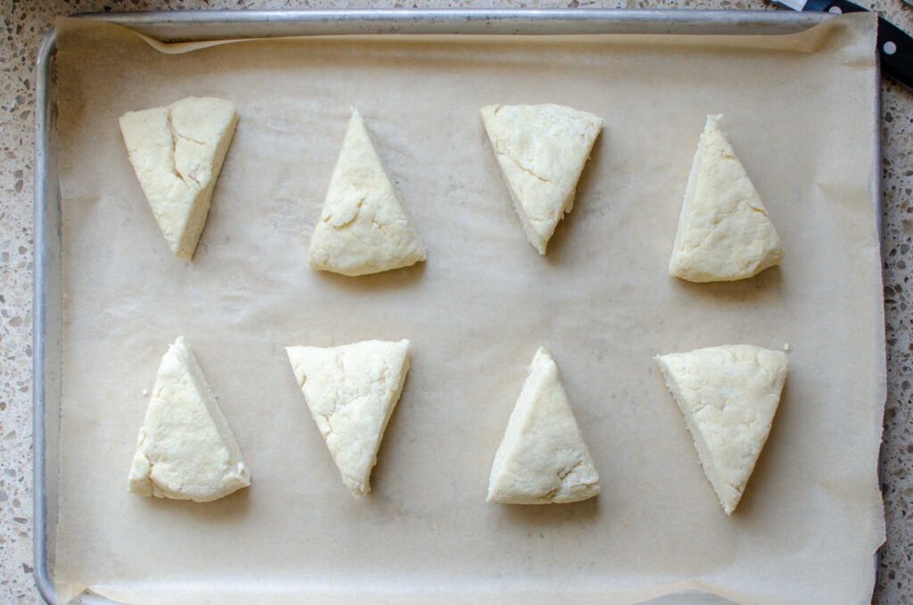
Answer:
[[[708,115],[691,164],[669,274],[687,281],[735,281],[779,265],[780,238],[758,190]]]

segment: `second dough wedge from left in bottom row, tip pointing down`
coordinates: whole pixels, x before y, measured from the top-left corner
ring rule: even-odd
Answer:
[[[409,372],[409,341],[286,349],[310,415],[356,498],[371,491],[383,431]]]

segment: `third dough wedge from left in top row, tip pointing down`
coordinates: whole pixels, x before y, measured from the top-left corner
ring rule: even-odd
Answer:
[[[488,105],[481,112],[523,231],[545,254],[558,221],[571,212],[603,119],[552,104]]]

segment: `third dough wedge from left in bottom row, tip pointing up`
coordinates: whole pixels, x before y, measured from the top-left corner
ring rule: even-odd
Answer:
[[[562,504],[599,494],[599,473],[561,386],[540,348],[530,365],[488,481],[488,502]]]

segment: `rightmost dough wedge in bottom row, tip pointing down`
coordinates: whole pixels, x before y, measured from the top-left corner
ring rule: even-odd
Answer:
[[[788,359],[751,345],[656,356],[701,466],[731,515],[771,432]]]

